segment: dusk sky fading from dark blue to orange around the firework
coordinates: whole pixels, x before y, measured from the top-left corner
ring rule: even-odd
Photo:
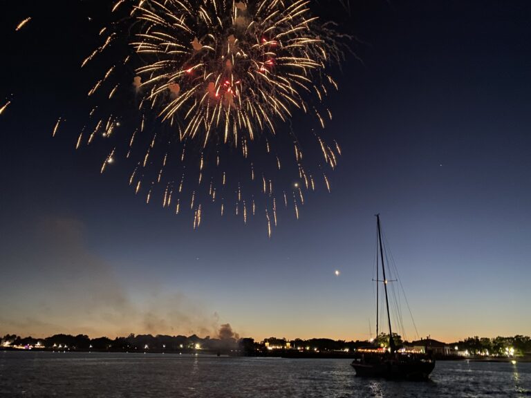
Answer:
[[[531,332],[531,3],[330,2],[357,38],[326,99],[342,157],[271,238],[263,216],[194,230],[75,151],[97,3],[0,1],[0,334],[367,339],[376,213],[420,336]]]

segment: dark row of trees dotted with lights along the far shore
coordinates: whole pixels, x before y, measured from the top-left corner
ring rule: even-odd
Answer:
[[[393,333],[395,344],[407,345],[407,341],[402,341],[398,334]],[[6,334],[1,339],[3,348],[9,347],[33,347],[40,346],[46,350],[79,350],[79,351],[122,351],[122,352],[189,352],[197,350],[207,350],[211,352],[239,351],[241,354],[261,354],[269,350],[318,350],[326,351],[354,351],[356,348],[371,345],[373,341],[357,340],[333,340],[333,339],[293,339],[269,337],[257,342],[252,338],[240,339],[237,335],[227,334],[220,338],[201,338],[192,336],[167,336],[157,334],[129,334],[128,337],[108,337],[89,338],[86,334],[54,334],[44,339],[33,337],[19,337],[16,334]],[[389,344],[389,337],[380,334],[376,339],[378,344]],[[467,339],[448,344],[452,349],[455,347],[459,351],[467,350],[471,355],[523,355],[531,353],[531,338],[523,335],[514,337],[468,337]],[[511,352],[512,350],[512,352]]]

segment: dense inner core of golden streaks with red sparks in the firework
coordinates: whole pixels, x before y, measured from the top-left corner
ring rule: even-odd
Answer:
[[[184,138],[202,135],[206,146],[221,130],[224,143],[237,143],[242,133],[253,140],[256,126],[274,131],[275,117],[307,108],[300,91],[320,94],[311,77],[326,52],[321,39],[307,34],[316,20],[304,16],[308,1],[283,9],[280,1],[254,9],[197,3],[146,2],[133,12],[146,21],[133,47],[149,59],[137,70],[138,88],[162,120],[173,123],[183,113]]]

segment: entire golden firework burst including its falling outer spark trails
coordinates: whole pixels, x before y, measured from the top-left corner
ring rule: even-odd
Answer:
[[[122,14],[122,22],[100,31],[102,45],[82,67],[109,48],[127,51],[88,91],[97,106],[76,141],[80,148],[95,138],[115,138],[102,173],[118,153],[137,158],[129,179],[135,192],[145,187],[149,202],[160,187],[162,207],[173,203],[175,214],[189,195],[194,228],[201,225],[205,202],[218,203],[221,214],[234,203],[234,214],[248,222],[257,212],[254,194],[261,191],[268,234],[277,225],[278,198],[288,207],[287,190],[274,187],[281,169],[288,169],[297,218],[302,189],[315,189],[313,175],[321,175],[330,191],[326,168],[337,164],[337,143],[328,146],[314,131],[305,134],[315,138],[324,158],[312,172],[295,133],[281,140],[276,132],[295,111],[313,113],[323,129],[332,117],[322,101],[330,88],[337,89],[328,66],[341,57],[339,35],[312,14],[310,0],[119,0],[112,10]],[[132,91],[140,117],[126,136],[118,111],[102,115],[109,107],[101,99],[123,104]],[[290,162],[281,161],[286,138],[295,154]],[[234,166],[234,158],[241,164]],[[296,187],[294,177],[300,181]],[[172,202],[172,196],[178,198]]]

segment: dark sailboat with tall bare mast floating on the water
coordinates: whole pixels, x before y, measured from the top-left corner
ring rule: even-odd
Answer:
[[[384,265],[384,249],[382,245],[382,228],[380,226],[380,214],[376,215],[376,226],[378,229],[378,254],[382,263],[383,280],[378,280],[378,263],[376,265],[376,336],[378,337],[378,284],[384,285],[385,305],[387,311],[387,321],[389,323],[389,347],[379,347],[378,345],[359,348],[356,350],[356,357],[352,361],[352,366],[357,376],[364,377],[384,377],[386,379],[410,379],[425,380],[435,368],[435,360],[431,355],[424,352],[407,351],[398,349],[391,328],[391,315],[389,313],[389,297],[387,295],[387,283]],[[378,256],[377,254],[377,256]]]

